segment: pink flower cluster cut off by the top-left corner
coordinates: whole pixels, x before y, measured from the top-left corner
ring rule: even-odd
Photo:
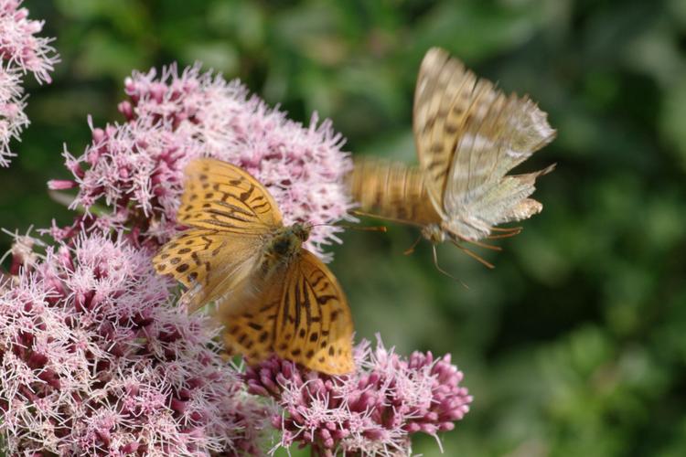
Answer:
[[[31,72],[38,82],[50,82],[49,73],[59,61],[49,46],[51,38],[36,37],[43,22],[29,20],[21,0],[0,0],[0,166],[9,165],[15,155],[12,138],[28,125],[22,78]]]

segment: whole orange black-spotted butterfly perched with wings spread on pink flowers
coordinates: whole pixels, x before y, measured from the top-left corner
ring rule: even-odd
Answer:
[[[184,175],[177,219],[188,229],[153,264],[187,287],[190,311],[215,303],[227,351],[248,363],[275,353],[331,375],[352,371],[348,302],[302,247],[310,227],[285,227],[267,189],[237,166],[196,159]]]

